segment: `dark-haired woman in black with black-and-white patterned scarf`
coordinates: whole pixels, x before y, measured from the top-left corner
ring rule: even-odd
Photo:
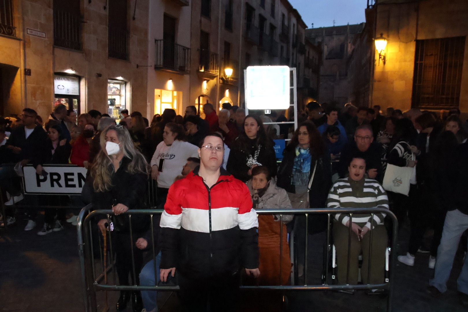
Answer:
[[[244,118],[244,132],[232,145],[227,171],[236,179],[247,182],[252,175],[252,168],[266,166],[272,177],[278,172],[274,143],[266,135],[259,116],[249,115]]]

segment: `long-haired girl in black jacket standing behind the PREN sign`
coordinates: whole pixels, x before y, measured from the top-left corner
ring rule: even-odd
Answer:
[[[47,172],[42,165],[44,164],[68,164],[68,158],[72,152],[72,147],[67,139],[62,137],[62,127],[56,121],[49,121],[45,130],[47,131],[48,138],[44,141],[44,148],[37,150],[36,156],[33,158],[32,163],[36,168],[36,174],[46,176]],[[46,196],[46,195],[44,195]],[[41,200],[46,200],[49,205],[55,206],[64,203],[67,196],[51,195],[48,198],[42,197]],[[30,216],[34,221],[35,215]],[[37,235],[46,235],[50,232],[59,232],[63,230],[62,223],[65,221],[66,210],[59,209],[45,209],[44,211],[44,226],[42,230],[37,232]],[[57,218],[55,219],[55,217]],[[54,220],[55,219],[55,220]]]

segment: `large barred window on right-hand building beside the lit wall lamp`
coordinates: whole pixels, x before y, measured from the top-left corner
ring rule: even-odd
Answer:
[[[458,107],[465,37],[416,41],[412,107]]]

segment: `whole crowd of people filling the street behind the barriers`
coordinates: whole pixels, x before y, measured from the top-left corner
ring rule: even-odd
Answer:
[[[149,123],[138,111],[122,110],[117,124],[97,110],[77,116],[59,104],[44,124],[29,108],[18,118],[2,118],[0,163],[17,166],[0,167],[0,188],[7,196],[0,224],[16,222],[15,203],[24,199],[18,168],[31,164],[38,176],[45,176],[44,164],[84,167],[83,205],[114,212],[110,225],[106,218],[96,224],[103,235],[113,232],[121,285],[171,283],[177,272],[184,310],[235,311],[239,276],[248,276],[247,283],[287,284],[292,259],[286,235],[292,230],[297,236],[296,269],[304,276],[305,236],[328,227],[326,214],[309,214],[306,220],[304,215],[257,217],[256,210],[377,207],[392,211],[400,227],[409,220],[408,252],[398,261],[414,266],[418,253],[430,253],[434,278],[428,292],[437,297],[446,291],[468,229],[463,181],[468,174],[468,124],[459,110],[441,116],[388,108],[382,116],[378,105],[370,109],[348,103],[339,109],[310,102],[297,115],[297,129],[281,124],[292,121],[284,111],[246,116],[244,109],[224,103],[218,113],[211,104],[203,112],[205,118],[195,106],[188,106],[184,116],[165,109]],[[290,139],[280,162],[273,141],[278,138]],[[398,168],[411,173],[405,181],[395,179],[408,184],[407,193],[386,187]],[[148,216],[129,221],[124,214],[149,208],[148,179],[157,182],[156,207],[164,209],[154,228]],[[61,203],[69,199],[53,198]],[[31,231],[37,210],[28,211],[27,218],[24,230]],[[76,224],[65,209],[46,207],[37,234],[59,232],[66,220]],[[336,214],[331,226],[338,282],[358,283],[362,251],[362,282],[383,283],[385,250],[392,239],[388,214]],[[433,232],[430,246],[424,245],[427,232]],[[145,252],[153,244],[155,258]],[[458,290],[467,305],[467,259]],[[129,302],[135,312],[157,311],[154,291],[122,291],[117,311]]]

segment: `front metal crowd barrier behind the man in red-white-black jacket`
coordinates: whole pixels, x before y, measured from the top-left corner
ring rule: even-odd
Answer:
[[[113,214],[112,210],[92,210],[92,205],[88,205],[81,210],[79,218],[78,218],[78,226],[77,226],[77,231],[78,231],[78,247],[79,247],[79,254],[80,254],[80,266],[81,266],[81,283],[82,283],[82,289],[83,289],[83,300],[85,303],[85,311],[92,311],[96,312],[97,311],[97,301],[96,301],[96,293],[98,291],[107,291],[107,290],[157,290],[157,291],[177,291],[179,290],[178,286],[139,286],[139,285],[117,285],[117,283],[114,284],[109,284],[107,278],[107,274],[110,273],[112,270],[114,273],[114,282],[116,281],[115,278],[115,270],[113,269],[114,266],[114,259],[112,255],[112,245],[110,243],[110,253],[109,253],[109,261],[104,263],[102,260],[102,251],[100,251],[101,257],[100,257],[100,268],[101,270],[96,272],[97,267],[99,266],[99,263],[96,264],[94,260],[94,253],[93,253],[93,231],[91,229],[91,222],[94,219],[94,217],[98,215],[105,215],[105,218],[108,219],[108,222],[110,221],[110,216]],[[153,229],[153,217],[154,215],[161,214],[163,210],[156,210],[156,209],[151,209],[151,210],[130,210],[129,212],[127,211],[125,214],[128,215],[129,219],[132,218],[132,215],[149,215],[151,218],[151,228]],[[385,283],[381,284],[358,284],[358,285],[350,285],[348,284],[349,281],[349,266],[350,262],[348,260],[347,263],[347,278],[346,278],[346,283],[345,284],[332,284],[333,281],[336,281],[336,279],[332,278],[332,275],[334,273],[332,272],[332,262],[336,263],[335,261],[332,261],[330,254],[332,253],[332,250],[334,248],[332,244],[332,238],[331,238],[331,226],[332,226],[332,220],[334,218],[334,214],[336,213],[344,213],[350,216],[350,222],[352,222],[352,215],[353,214],[358,214],[358,213],[371,213],[371,218],[374,217],[375,213],[386,213],[387,216],[392,220],[392,232],[393,232],[393,238],[391,242],[391,246],[387,248],[386,250],[386,256],[389,262],[386,263],[386,276],[385,276]],[[273,214],[273,215],[278,215],[280,214],[280,222],[282,223],[282,218],[283,215],[305,215],[306,216],[306,235],[305,235],[305,262],[304,262],[304,284],[302,285],[270,285],[270,286],[251,286],[251,285],[241,285],[240,289],[241,290],[280,290],[283,292],[283,294],[286,291],[298,291],[298,290],[306,290],[306,291],[311,291],[311,290],[374,290],[374,289],[379,289],[379,290],[386,290],[388,294],[388,299],[387,299],[387,311],[392,311],[392,297],[393,297],[393,285],[394,285],[394,272],[395,272],[395,261],[396,261],[396,254],[395,248],[396,248],[396,240],[397,240],[397,235],[398,235],[398,221],[395,217],[395,215],[383,208],[373,208],[373,209],[368,209],[368,208],[322,208],[322,209],[262,209],[262,210],[257,210],[257,213],[260,215],[263,214]],[[307,247],[308,247],[308,216],[309,215],[315,215],[315,214],[327,214],[328,215],[328,226],[327,226],[327,239],[326,239],[326,257],[325,257],[325,263],[324,263],[324,273],[322,276],[322,284],[309,284],[307,283],[308,278],[307,278],[307,265],[308,265],[308,254],[307,254]],[[110,223],[109,223],[110,224]],[[130,224],[130,232],[132,233],[132,227],[131,227],[131,222]],[[282,226],[280,227],[282,229]],[[153,230],[152,230],[153,231]],[[108,232],[111,233],[111,232]],[[151,247],[151,252],[153,255],[153,259],[155,259],[156,254],[155,254],[155,242],[154,242],[154,232],[153,234],[153,241],[152,247]],[[281,259],[282,259],[282,235],[284,235],[283,230],[280,232],[280,243],[279,243],[279,248],[280,248],[280,268],[281,268]],[[350,259],[350,246],[351,246],[351,234],[354,235],[353,232],[351,232],[351,227],[349,227],[349,237],[348,237],[348,259]],[[101,235],[101,233],[99,233]],[[132,234],[131,234],[132,235]],[[370,235],[370,243],[369,243],[369,254],[371,254],[371,248],[372,248],[372,239],[373,239],[373,231],[370,230],[368,235]],[[102,235],[101,235],[102,236]],[[109,241],[111,242],[111,237],[112,235],[109,235]],[[133,239],[131,238],[131,242]],[[99,242],[99,244],[101,244]],[[148,242],[149,246],[150,242]],[[99,245],[101,248],[101,245]],[[133,253],[133,246],[131,246],[131,250]],[[293,246],[290,246],[290,248],[293,249]],[[388,255],[388,253],[390,255]],[[133,254],[132,254],[133,257]],[[133,258],[132,258],[133,259]],[[296,262],[297,256],[291,257],[291,261]],[[368,280],[370,279],[370,267],[371,267],[371,257],[369,257],[369,263],[368,263]],[[154,261],[155,263],[155,261]],[[335,264],[333,264],[335,265]],[[133,271],[134,274],[138,274],[139,272],[135,272],[135,266],[134,262],[132,262],[133,266]],[[293,267],[296,267],[296,263],[293,263]],[[154,264],[154,274],[155,274],[155,281],[157,284],[157,277],[156,277],[156,264]],[[330,274],[331,273],[331,274]],[[279,274],[281,274],[281,269]],[[333,276],[334,277],[334,276]],[[281,278],[279,278],[281,281]],[[384,276],[382,276],[382,280],[384,280]],[[105,281],[105,282],[104,282]],[[330,283],[331,282],[331,283]]]

